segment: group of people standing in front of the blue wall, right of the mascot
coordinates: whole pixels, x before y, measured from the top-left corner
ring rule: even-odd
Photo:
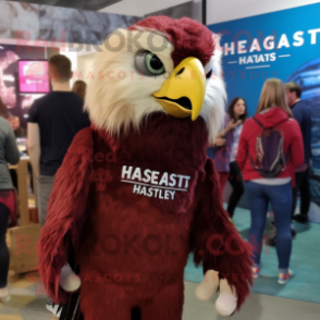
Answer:
[[[276,246],[279,283],[286,283],[294,271],[290,267],[292,239],[296,235],[292,220],[308,222],[310,207],[309,169],[311,160],[311,119],[296,83],[268,79],[262,88],[256,114],[246,120],[245,99],[234,98],[208,156],[214,160],[222,190],[229,180],[232,193],[226,211],[230,219],[244,190],[249,201],[251,225],[249,243],[254,246],[253,276],[261,269],[261,242],[271,205],[275,232],[269,245]],[[300,194],[300,212],[296,210]]]

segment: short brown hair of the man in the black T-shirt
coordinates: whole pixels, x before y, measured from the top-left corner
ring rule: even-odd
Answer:
[[[71,61],[63,54],[56,54],[49,59],[49,70],[53,81],[64,83],[72,77]]]

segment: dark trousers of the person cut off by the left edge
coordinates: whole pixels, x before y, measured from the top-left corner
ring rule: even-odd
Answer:
[[[10,256],[5,243],[10,211],[0,202],[0,288],[7,286]]]

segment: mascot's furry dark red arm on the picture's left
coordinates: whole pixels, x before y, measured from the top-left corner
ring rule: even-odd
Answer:
[[[86,219],[91,151],[91,131],[85,128],[74,138],[56,174],[40,234],[39,271],[47,293],[57,304],[66,303],[67,294],[59,286],[61,268],[77,249]]]

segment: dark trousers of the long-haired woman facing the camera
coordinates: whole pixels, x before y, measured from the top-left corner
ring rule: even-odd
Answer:
[[[243,177],[236,161],[230,162],[230,174],[229,174],[229,182],[232,185],[232,194],[229,199],[229,205],[226,211],[229,216],[232,218],[234,210],[239,201],[241,197],[245,192]]]

